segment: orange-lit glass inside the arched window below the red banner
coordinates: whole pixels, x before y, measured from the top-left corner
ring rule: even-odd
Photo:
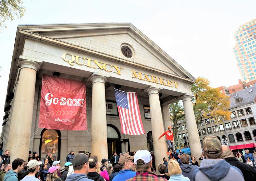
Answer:
[[[59,134],[55,130],[45,130],[42,134],[41,158],[45,158],[48,152],[52,153],[53,159],[58,160]]]

